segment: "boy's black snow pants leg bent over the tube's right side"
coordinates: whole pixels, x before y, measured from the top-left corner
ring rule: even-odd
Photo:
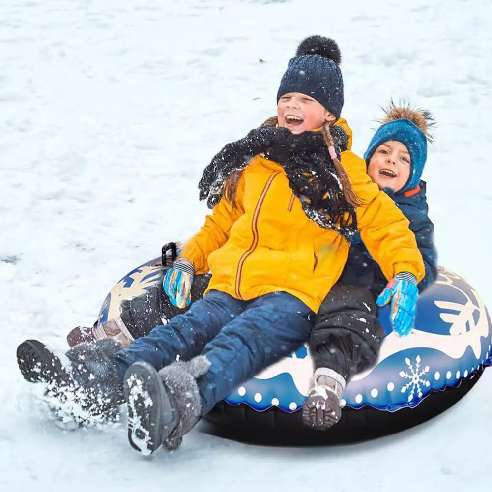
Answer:
[[[333,369],[348,383],[376,363],[383,338],[369,289],[335,284],[316,314],[309,338],[314,369]]]

